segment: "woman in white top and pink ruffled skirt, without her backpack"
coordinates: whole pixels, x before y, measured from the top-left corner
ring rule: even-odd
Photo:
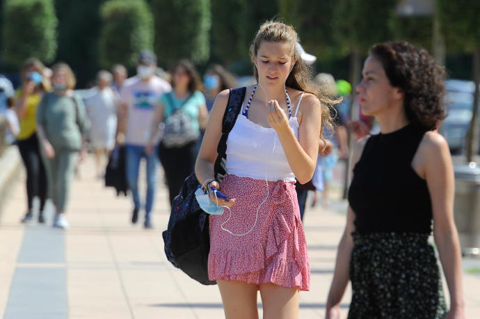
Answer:
[[[227,319],[258,318],[258,290],[263,318],[298,318],[299,290],[310,289],[294,184],[313,176],[331,101],[312,83],[297,42],[291,26],[260,26],[250,46],[257,84],[246,88],[245,100],[229,91],[217,96],[195,164],[211,202],[225,208],[210,217],[208,273]],[[214,161],[231,99],[242,107],[227,138],[220,184]]]

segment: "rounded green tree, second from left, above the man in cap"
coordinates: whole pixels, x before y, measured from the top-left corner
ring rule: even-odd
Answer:
[[[114,63],[133,67],[138,52],[153,49],[153,17],[144,0],[106,1],[100,13],[99,61],[104,68]]]

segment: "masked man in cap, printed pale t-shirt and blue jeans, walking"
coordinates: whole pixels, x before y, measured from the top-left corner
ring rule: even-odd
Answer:
[[[157,77],[157,56],[144,50],[138,56],[137,75],[125,80],[120,91],[120,118],[117,141],[125,143],[127,156],[127,182],[134,201],[131,222],[136,224],[141,209],[138,194],[138,169],[142,158],[147,162],[147,196],[143,226],[151,228],[150,215],[157,183],[157,147],[147,153],[145,146],[153,140],[157,145],[159,136],[150,137],[150,128],[155,114],[155,104],[161,95],[172,90],[167,81]]]

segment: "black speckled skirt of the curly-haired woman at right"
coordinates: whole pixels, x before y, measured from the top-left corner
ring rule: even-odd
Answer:
[[[352,236],[349,319],[445,318],[442,280],[429,234]]]

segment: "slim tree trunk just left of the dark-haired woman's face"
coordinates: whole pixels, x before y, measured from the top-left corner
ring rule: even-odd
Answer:
[[[350,109],[349,109],[349,118],[351,120],[357,120],[358,119],[358,104],[356,103],[356,96],[357,93],[355,91],[355,86],[360,82],[360,76],[362,74],[362,55],[360,54],[360,50],[358,49],[353,49],[353,52],[350,56],[350,84],[352,86],[352,91],[350,95]],[[351,131],[349,130],[348,134],[348,143],[349,143],[349,150],[351,153],[351,150],[353,149],[353,144],[355,143],[355,139],[353,139],[353,136],[351,134]],[[350,157],[347,160],[347,164],[345,165],[345,180],[344,180],[344,194],[343,198],[346,199],[346,196],[349,192],[349,186],[350,186],[350,172],[351,172],[351,162],[350,162]]]

